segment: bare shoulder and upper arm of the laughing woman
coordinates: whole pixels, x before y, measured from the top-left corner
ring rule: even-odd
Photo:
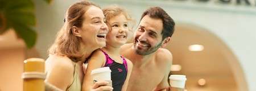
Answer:
[[[61,90],[66,90],[73,80],[74,65],[71,59],[51,55],[46,60],[46,82]]]

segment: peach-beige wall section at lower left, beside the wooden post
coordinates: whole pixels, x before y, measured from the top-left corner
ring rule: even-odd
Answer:
[[[0,49],[0,91],[23,89],[23,60],[25,48]]]

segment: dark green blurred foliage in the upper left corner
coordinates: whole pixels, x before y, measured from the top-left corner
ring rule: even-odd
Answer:
[[[52,0],[44,0],[50,3]],[[32,0],[0,0],[0,35],[13,28],[28,48],[36,43],[35,5]]]

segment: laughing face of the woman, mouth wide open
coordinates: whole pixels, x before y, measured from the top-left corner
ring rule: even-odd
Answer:
[[[106,46],[108,26],[106,26],[105,16],[102,10],[96,6],[91,6],[83,17],[84,21],[81,27],[82,43],[92,48]]]

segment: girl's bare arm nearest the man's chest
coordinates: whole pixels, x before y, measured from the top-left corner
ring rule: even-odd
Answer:
[[[127,72],[125,83],[123,84],[123,87],[122,87],[122,91],[126,91],[127,85],[129,84],[129,80],[130,80],[131,71],[133,70],[133,63],[131,63],[129,59],[125,59],[125,60],[127,61],[128,72]]]

